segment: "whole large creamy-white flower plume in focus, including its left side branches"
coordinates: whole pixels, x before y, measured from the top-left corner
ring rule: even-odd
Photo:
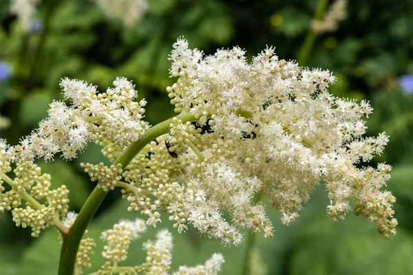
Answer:
[[[114,164],[82,164],[85,172],[105,192],[122,188],[128,210],[147,217],[147,225],[168,212],[179,232],[190,224],[225,244],[242,241],[240,228],[272,237],[260,198],[288,225],[323,182],[331,221],[353,211],[377,223],[385,238],[396,234],[395,198],[380,190],[391,167],[359,165],[382,153],[388,137],[363,137],[363,117],[372,108],[330,95],[330,72],[279,60],[273,47],[251,63],[240,47],[204,56],[184,39],[173,44],[170,58],[177,81],[167,91],[179,115],[152,127],[142,120],[146,101],[134,101],[127,79],[117,78],[103,93],[63,79],[71,105],[52,102],[49,117],[21,144],[1,143],[0,176],[12,187],[1,190],[1,210],[12,210],[17,225],[32,227],[34,236],[50,225],[65,232],[59,216],[67,212],[68,191],[49,190],[50,176],[33,161],[58,153],[72,159],[96,142]],[[13,162],[16,179],[6,175]],[[26,208],[19,208],[21,199]]]

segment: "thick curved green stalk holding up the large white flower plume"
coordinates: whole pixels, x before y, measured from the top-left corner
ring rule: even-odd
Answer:
[[[194,121],[194,115],[189,113],[181,113],[177,115],[176,118],[182,120],[183,123],[188,121]],[[156,124],[149,130],[145,132],[139,140],[130,144],[122,155],[115,160],[114,164],[121,164],[122,168],[125,168],[129,162],[137,155],[143,147],[145,147],[149,142],[155,140],[156,137],[160,135],[165,135],[169,133],[169,124],[171,124],[173,118],[165,120]],[[107,192],[96,186],[92,193],[87,198],[85,204],[83,205],[81,212],[79,212],[76,221],[70,228],[69,233],[63,235],[63,243],[61,248],[61,258],[59,262],[59,275],[73,275],[74,274],[74,264],[76,261],[76,254],[79,248],[79,243],[83,238],[83,234],[89,225],[90,221],[98,210],[100,203],[105,199]]]

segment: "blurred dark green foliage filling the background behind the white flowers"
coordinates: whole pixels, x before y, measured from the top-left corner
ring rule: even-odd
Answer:
[[[43,0],[25,31],[10,12],[10,0],[2,0],[0,113],[10,119],[10,126],[0,131],[0,137],[16,144],[36,128],[48,104],[63,99],[59,80],[64,76],[94,83],[101,91],[117,76],[125,76],[134,80],[139,98],[149,102],[147,120],[165,120],[173,115],[165,92],[174,81],[167,57],[178,36],[207,54],[240,45],[251,57],[274,45],[280,58],[297,59],[318,2],[148,0],[142,20],[125,28],[121,21],[105,17],[92,1]],[[252,274],[413,274],[413,1],[349,1],[346,12],[337,31],[315,36],[306,63],[300,65],[334,72],[337,83],[330,91],[335,96],[370,100],[374,114],[368,120],[369,135],[390,135],[385,153],[371,164],[394,166],[388,190],[397,197],[398,233],[384,240],[374,224],[350,214],[346,221],[331,224],[325,214],[324,186],[319,186],[296,225],[286,227],[276,210],[268,211],[275,237],[257,237],[257,268]],[[107,160],[98,146],[89,146],[74,162],[40,163],[54,184],[71,190],[70,207],[76,211],[94,187],[80,162]],[[87,235],[98,240],[100,232],[119,219],[138,215],[126,208],[120,192],[111,192]],[[173,269],[203,263],[213,252],[222,252],[222,274],[242,274],[245,244],[223,248],[191,230],[177,234],[167,219],[160,228],[174,232]],[[153,239],[158,230],[149,230],[131,245],[125,264],[145,261],[142,242]],[[29,231],[16,228],[10,213],[0,215],[1,274],[56,274],[58,233],[50,229],[33,239]],[[102,248],[98,241],[94,266],[86,274],[104,263]]]

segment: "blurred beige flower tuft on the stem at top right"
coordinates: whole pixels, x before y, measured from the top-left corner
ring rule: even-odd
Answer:
[[[317,32],[317,34],[336,31],[339,28],[340,21],[346,19],[346,6],[347,0],[335,0],[335,2],[330,5],[324,19],[313,20],[311,22],[311,28]]]

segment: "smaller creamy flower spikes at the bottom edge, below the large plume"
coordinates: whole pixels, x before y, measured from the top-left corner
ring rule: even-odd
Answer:
[[[114,228],[102,233],[101,239],[107,241],[103,257],[108,259],[97,272],[99,275],[109,275],[119,273],[122,275],[167,275],[171,270],[172,262],[172,234],[168,230],[160,230],[156,234],[156,241],[147,241],[143,248],[147,251],[145,263],[135,267],[120,267],[118,263],[125,261],[127,250],[131,241],[137,239],[142,232],[146,231],[145,221],[136,219],[135,221],[120,221]],[[211,259],[204,265],[196,267],[181,266],[173,275],[204,274],[215,275],[221,270],[224,258],[221,254],[213,254]]]

